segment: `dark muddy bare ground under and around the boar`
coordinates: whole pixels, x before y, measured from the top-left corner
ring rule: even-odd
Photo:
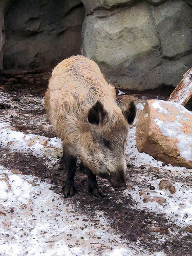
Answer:
[[[35,134],[48,138],[55,137],[46,120],[43,101],[49,75],[49,73],[2,75],[0,86],[2,93],[1,121],[10,122],[14,130],[25,134]],[[158,90],[142,93],[123,91],[134,97],[137,103],[143,103],[148,98],[166,100],[172,90],[171,87],[162,86]],[[6,93],[5,98],[4,93]],[[191,109],[190,102],[187,108]],[[131,129],[134,129],[134,126]],[[0,158],[1,164],[6,168],[18,169],[23,175],[39,177],[42,181],[50,184],[50,189],[63,197],[61,187],[65,181],[66,173],[65,170],[62,170],[60,158],[53,161],[51,165],[47,165],[46,158],[35,156],[30,151],[15,152],[9,146],[0,147]],[[127,154],[126,193],[114,191],[108,181],[98,178],[98,183],[106,191],[107,196],[104,198],[94,197],[88,192],[87,176],[78,167],[75,176],[76,194],[69,199],[63,198],[63,201],[65,200],[67,205],[73,205],[78,213],[87,216],[84,222],[93,222],[94,226],[100,225],[99,221],[95,221],[95,212],[98,210],[104,212],[104,216],[110,222],[110,229],[124,241],[125,247],[130,246],[130,243],[135,243],[152,253],[151,255],[153,253],[155,255],[155,252],[164,252],[165,255],[172,256],[192,255],[192,237],[186,226],[180,225],[158,210],[152,211],[147,207],[141,209],[139,203],[132,196],[135,186],[140,191],[146,189],[153,191],[155,189],[154,182],[157,179],[168,179],[191,187],[191,173],[180,175],[180,173],[163,169],[161,164],[159,168],[150,163],[147,166],[145,163],[136,166],[132,163],[133,160],[134,156]],[[157,227],[156,231],[153,231],[154,227]],[[99,250],[97,255],[102,255],[104,248]]]

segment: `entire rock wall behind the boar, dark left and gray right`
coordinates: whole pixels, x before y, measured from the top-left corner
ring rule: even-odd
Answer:
[[[81,53],[116,87],[145,90],[177,86],[192,66],[189,0],[12,2],[5,13],[7,73],[51,70]]]

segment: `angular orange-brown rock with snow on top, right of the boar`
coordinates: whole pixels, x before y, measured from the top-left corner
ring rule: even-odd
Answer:
[[[136,146],[156,160],[192,168],[192,114],[175,102],[147,100],[136,124]]]

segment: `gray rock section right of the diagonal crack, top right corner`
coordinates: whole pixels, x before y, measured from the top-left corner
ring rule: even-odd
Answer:
[[[192,52],[192,9],[183,0],[153,8],[163,58],[175,59]]]

